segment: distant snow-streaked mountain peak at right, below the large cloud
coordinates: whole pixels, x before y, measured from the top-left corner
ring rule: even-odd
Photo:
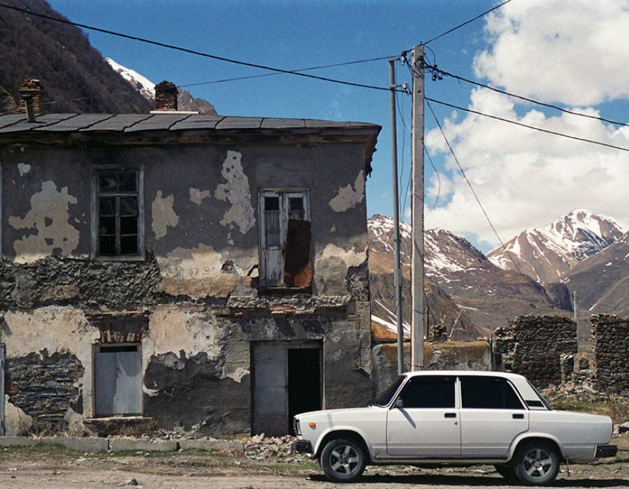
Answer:
[[[628,229],[611,217],[574,210],[541,229],[523,231],[487,257],[537,282],[557,282],[574,265],[605,249]]]

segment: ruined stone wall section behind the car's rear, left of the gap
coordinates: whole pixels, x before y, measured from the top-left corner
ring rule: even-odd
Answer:
[[[527,377],[538,388],[559,385],[561,359],[577,353],[577,323],[565,316],[518,316],[496,330],[494,351],[502,370]]]

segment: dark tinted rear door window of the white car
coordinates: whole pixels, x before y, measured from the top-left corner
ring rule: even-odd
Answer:
[[[461,377],[463,409],[524,409],[507,379],[500,377]]]

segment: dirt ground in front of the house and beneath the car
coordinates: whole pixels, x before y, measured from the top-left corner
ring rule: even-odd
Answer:
[[[555,487],[629,487],[629,434],[616,436],[616,459],[594,465],[565,466]],[[509,484],[490,466],[419,469],[368,467],[352,489],[441,489],[502,487]],[[255,452],[76,453],[58,446],[4,448],[0,451],[0,488],[11,489],[294,489],[333,488],[316,462],[303,455],[277,453],[260,458]]]

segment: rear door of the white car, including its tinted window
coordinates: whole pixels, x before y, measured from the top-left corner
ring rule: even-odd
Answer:
[[[461,376],[461,455],[502,458],[528,430],[528,409],[503,377]]]

